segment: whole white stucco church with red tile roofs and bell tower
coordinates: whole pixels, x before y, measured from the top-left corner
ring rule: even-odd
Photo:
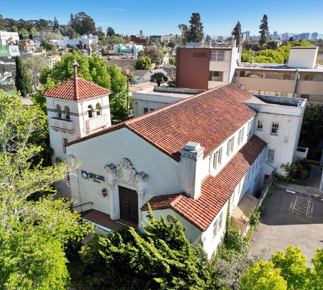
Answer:
[[[211,255],[225,216],[297,150],[304,99],[253,96],[226,83],[111,126],[108,94],[75,77],[47,91],[55,157],[80,162],[70,188],[83,218],[107,232],[141,228],[149,202]]]

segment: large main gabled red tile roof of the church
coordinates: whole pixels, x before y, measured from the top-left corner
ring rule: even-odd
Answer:
[[[251,96],[235,84],[227,83],[77,139],[67,146],[126,127],[178,162],[180,149],[189,141],[205,147],[206,157],[255,115],[253,109],[243,104]]]

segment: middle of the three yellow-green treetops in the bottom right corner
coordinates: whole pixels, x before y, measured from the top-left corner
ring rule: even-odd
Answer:
[[[306,265],[306,257],[298,247],[289,246],[285,252],[285,255],[282,251],[272,255],[274,268],[281,270],[280,275],[287,282],[288,289],[307,290],[311,269]]]

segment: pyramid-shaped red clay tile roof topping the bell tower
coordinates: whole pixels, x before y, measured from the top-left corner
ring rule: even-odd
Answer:
[[[109,94],[110,91],[80,77],[72,78],[46,91],[43,96],[65,100],[84,100]]]

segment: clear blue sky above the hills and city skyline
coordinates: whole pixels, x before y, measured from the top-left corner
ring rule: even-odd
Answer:
[[[112,27],[119,34],[179,34],[177,26],[187,24],[192,12],[199,12],[204,33],[230,35],[239,20],[242,31],[258,35],[263,14],[269,31],[279,33],[318,32],[323,34],[323,0],[0,0],[3,18],[24,20],[44,18],[67,24],[71,13],[84,11],[104,31]]]

